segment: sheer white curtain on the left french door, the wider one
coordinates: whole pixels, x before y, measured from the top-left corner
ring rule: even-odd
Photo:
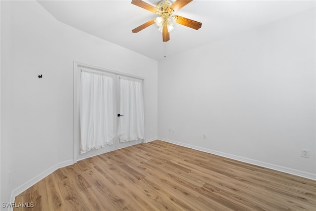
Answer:
[[[81,154],[113,144],[116,136],[113,86],[112,76],[81,70]]]

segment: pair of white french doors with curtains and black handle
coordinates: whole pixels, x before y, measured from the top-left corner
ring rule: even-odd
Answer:
[[[144,142],[143,81],[74,63],[74,163]]]

